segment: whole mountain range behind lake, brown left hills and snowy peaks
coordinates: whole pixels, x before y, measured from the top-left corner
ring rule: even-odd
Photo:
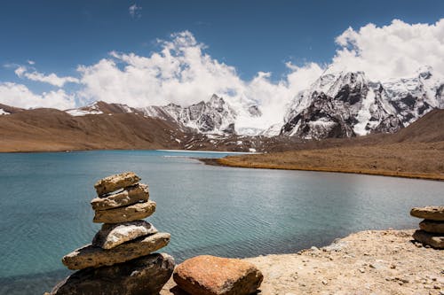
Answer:
[[[414,77],[385,82],[369,81],[362,72],[326,72],[289,102],[281,123],[266,128],[238,124],[246,118],[262,120],[261,105],[235,104],[230,97],[214,94],[208,101],[186,106],[136,108],[99,101],[58,111],[0,105],[0,134],[7,139],[3,144],[7,147],[2,148],[7,151],[26,151],[27,142],[47,140],[58,143],[50,150],[69,150],[71,145],[63,139],[73,136],[82,137],[80,149],[255,151],[271,146],[285,149],[311,139],[394,133],[440,108],[444,108],[444,80],[430,67]],[[19,143],[25,146],[15,149]],[[46,145],[42,150],[48,149]]]

